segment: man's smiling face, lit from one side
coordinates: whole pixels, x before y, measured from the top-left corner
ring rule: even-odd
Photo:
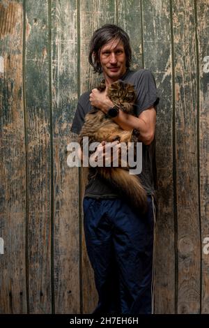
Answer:
[[[126,56],[121,40],[112,39],[103,45],[100,52],[100,64],[105,80],[114,82],[118,80],[126,70]]]

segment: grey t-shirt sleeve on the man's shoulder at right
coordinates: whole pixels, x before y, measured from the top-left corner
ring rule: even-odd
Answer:
[[[155,78],[150,70],[144,70],[135,83],[137,99],[135,101],[135,112],[141,114],[149,107],[155,107],[159,103],[160,98],[157,96],[157,88]]]

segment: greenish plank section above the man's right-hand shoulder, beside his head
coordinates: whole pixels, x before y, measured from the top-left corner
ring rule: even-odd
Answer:
[[[140,3],[139,0],[118,1],[117,8],[117,24],[130,36],[132,47],[131,68],[134,70],[143,67]]]

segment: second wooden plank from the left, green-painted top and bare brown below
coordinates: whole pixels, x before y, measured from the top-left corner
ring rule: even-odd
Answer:
[[[47,1],[26,1],[29,311],[51,313],[51,155]]]

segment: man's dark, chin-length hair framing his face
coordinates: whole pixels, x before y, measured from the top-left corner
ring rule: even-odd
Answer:
[[[102,73],[102,66],[100,64],[100,51],[106,43],[112,39],[121,40],[125,50],[126,67],[130,68],[132,59],[132,50],[130,47],[130,38],[127,33],[114,24],[105,24],[100,29],[97,29],[90,41],[90,50],[88,61],[93,66],[93,73]],[[93,55],[95,53],[95,56]]]

